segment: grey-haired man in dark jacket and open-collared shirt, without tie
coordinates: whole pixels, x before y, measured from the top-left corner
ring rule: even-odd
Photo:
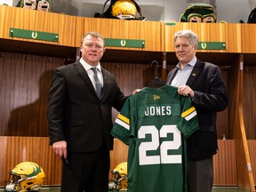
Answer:
[[[220,68],[196,59],[197,44],[193,31],[175,33],[174,49],[180,62],[168,74],[166,84],[179,87],[181,95],[191,97],[197,112],[199,130],[187,142],[188,191],[211,192],[212,156],[218,150],[216,116],[227,108],[228,97]]]

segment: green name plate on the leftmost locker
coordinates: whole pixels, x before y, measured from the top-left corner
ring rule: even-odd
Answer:
[[[10,28],[9,36],[35,39],[35,40],[43,40],[43,41],[51,41],[51,42],[59,41],[58,34],[46,33],[46,32],[41,32],[41,31],[34,31],[34,30],[25,30],[25,29],[20,29],[20,28]]]

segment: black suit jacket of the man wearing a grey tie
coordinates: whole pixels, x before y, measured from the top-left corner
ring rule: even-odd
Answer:
[[[80,62],[55,70],[48,99],[50,144],[68,142],[68,152],[83,153],[100,148],[105,139],[113,149],[112,107],[118,111],[126,97],[116,84],[115,76],[102,68],[102,99]]]

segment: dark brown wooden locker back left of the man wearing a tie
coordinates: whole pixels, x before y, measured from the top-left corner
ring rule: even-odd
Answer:
[[[62,58],[2,52],[0,135],[48,136],[46,104],[54,68]]]

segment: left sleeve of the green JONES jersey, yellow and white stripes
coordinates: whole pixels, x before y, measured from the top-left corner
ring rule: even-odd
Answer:
[[[111,135],[129,145],[130,139],[130,98],[124,102],[124,107],[116,117]]]

